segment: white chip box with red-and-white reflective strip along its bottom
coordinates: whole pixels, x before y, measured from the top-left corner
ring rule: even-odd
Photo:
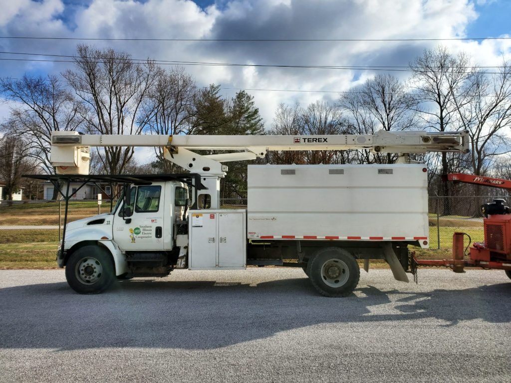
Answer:
[[[428,247],[427,185],[424,164],[249,165],[247,237]]]

